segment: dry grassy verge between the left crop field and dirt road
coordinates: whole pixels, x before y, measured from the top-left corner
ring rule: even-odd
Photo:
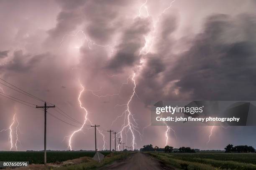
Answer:
[[[111,157],[105,157],[104,160],[102,160],[100,163],[95,160],[90,160],[86,163],[80,163],[76,165],[67,165],[59,168],[53,168],[52,170],[92,170],[96,168],[100,168],[105,165],[109,165],[115,160],[121,160],[126,158],[131,153],[115,153]]]

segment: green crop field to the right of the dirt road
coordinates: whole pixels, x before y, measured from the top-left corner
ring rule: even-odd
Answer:
[[[148,153],[184,170],[256,170],[256,153]]]

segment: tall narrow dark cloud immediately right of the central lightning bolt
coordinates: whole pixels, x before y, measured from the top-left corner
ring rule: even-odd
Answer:
[[[152,100],[174,100],[172,81],[169,80],[170,67],[172,67],[172,47],[175,43],[172,35],[178,27],[176,15],[164,14],[159,21],[159,30],[155,36],[155,51],[144,56],[145,63],[138,75],[137,91],[146,105],[151,104]],[[156,28],[158,29],[158,28]],[[171,90],[172,89],[172,90]],[[170,92],[168,92],[170,91]]]

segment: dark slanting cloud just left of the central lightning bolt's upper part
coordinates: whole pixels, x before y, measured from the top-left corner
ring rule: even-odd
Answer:
[[[120,70],[126,66],[137,65],[139,52],[145,44],[144,35],[150,31],[148,19],[137,18],[135,22],[125,30],[116,55],[110,60],[108,68]]]

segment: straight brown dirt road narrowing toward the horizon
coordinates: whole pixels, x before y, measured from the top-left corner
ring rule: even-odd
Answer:
[[[101,170],[175,170],[166,167],[154,158],[143,154],[131,154],[125,160],[116,161]]]

